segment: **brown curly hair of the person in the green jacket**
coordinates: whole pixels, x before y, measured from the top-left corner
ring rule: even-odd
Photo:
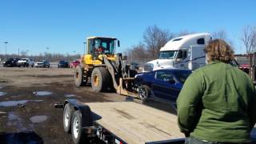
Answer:
[[[234,59],[234,50],[222,39],[214,39],[209,42],[204,50],[207,54],[208,61],[218,60],[229,63]]]

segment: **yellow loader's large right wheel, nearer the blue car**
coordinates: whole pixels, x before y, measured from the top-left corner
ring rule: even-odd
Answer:
[[[96,92],[102,92],[110,87],[111,75],[105,67],[95,67],[91,73],[91,86]]]

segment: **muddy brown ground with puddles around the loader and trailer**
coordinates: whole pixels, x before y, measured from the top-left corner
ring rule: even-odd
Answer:
[[[55,102],[77,98],[82,102],[118,102],[125,96],[96,93],[74,86],[73,70],[0,67],[0,143],[72,143],[62,128],[62,110]],[[161,102],[146,102],[174,113]],[[6,113],[6,114],[5,114]]]

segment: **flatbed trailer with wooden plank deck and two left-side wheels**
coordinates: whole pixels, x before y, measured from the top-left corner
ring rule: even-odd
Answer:
[[[64,108],[64,130],[71,131],[74,143],[90,138],[117,144],[184,142],[176,115],[136,102],[83,103],[69,99],[55,107]]]

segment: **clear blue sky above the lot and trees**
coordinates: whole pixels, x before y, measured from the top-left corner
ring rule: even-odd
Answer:
[[[88,36],[121,40],[118,51],[141,42],[148,26],[170,32],[214,32],[226,30],[236,46],[243,26],[256,26],[256,1],[172,1],[172,0],[1,0],[0,54],[49,52],[82,54]]]

